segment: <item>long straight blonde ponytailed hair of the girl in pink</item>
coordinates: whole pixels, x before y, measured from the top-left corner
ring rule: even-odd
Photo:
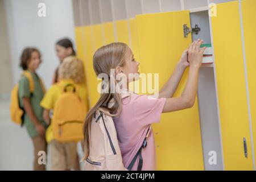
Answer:
[[[97,51],[93,55],[93,68],[94,72],[98,76],[101,73],[105,73],[110,78],[110,69],[115,69],[116,67],[124,67],[125,66],[125,56],[128,50],[128,46],[125,43],[111,43],[106,46],[102,46],[97,49]],[[101,93],[100,99],[88,111],[84,122],[84,158],[85,160],[89,156],[90,152],[90,123],[92,121],[93,113],[97,110],[101,110],[102,112],[115,117],[121,113],[122,110],[122,99],[119,93],[115,90],[114,93],[110,93],[110,85],[117,84],[115,79],[109,79],[108,83],[108,93]],[[111,83],[112,82],[112,83]],[[108,107],[109,101],[113,100],[114,105],[112,107]]]

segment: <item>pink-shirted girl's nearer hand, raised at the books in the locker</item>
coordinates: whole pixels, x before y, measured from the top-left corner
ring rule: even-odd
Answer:
[[[188,61],[189,65],[193,67],[201,67],[203,61],[203,54],[206,47],[200,48],[203,40],[197,39],[194,41],[188,49]]]

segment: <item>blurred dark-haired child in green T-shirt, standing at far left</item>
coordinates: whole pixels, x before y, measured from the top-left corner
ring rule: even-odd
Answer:
[[[44,96],[43,82],[40,80],[36,70],[41,63],[40,52],[36,48],[25,48],[20,57],[20,67],[24,72],[30,73],[32,80],[25,75],[19,80],[18,98],[20,107],[24,110],[23,125],[26,126],[34,145],[34,170],[45,170],[45,164],[39,164],[39,151],[47,148],[45,132],[47,128],[43,119],[43,107],[40,102]],[[30,86],[34,84],[34,91],[30,92]]]

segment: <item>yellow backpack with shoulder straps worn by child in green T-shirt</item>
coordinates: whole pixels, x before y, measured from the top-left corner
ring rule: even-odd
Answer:
[[[30,93],[33,93],[34,81],[31,73],[29,71],[24,71],[22,75],[28,78],[28,82],[30,84]],[[42,80],[40,80],[40,84],[42,86],[43,92],[46,92],[46,89],[44,87]],[[11,120],[14,123],[22,126],[23,125],[22,117],[24,114],[24,109],[21,108],[19,104],[18,90],[19,90],[19,85],[16,84],[13,90],[11,91],[10,115],[11,115]]]

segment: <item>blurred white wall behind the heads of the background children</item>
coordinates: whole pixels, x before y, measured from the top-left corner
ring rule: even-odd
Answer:
[[[46,17],[38,16],[40,2],[46,4]],[[22,72],[19,68],[19,57],[23,48],[35,46],[41,51],[43,59],[38,73],[49,88],[53,72],[59,64],[55,42],[67,36],[75,44],[72,1],[5,0],[5,9],[14,83],[18,81]]]

